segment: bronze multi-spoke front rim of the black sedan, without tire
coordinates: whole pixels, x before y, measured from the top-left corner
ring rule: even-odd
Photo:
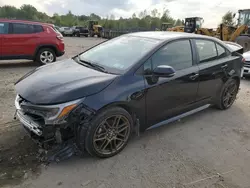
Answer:
[[[94,149],[102,155],[116,153],[127,143],[130,127],[129,120],[123,115],[106,118],[94,133]]]

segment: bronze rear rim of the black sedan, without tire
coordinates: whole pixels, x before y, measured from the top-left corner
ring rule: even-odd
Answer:
[[[224,89],[223,92],[223,105],[225,108],[230,107],[235,99],[238,92],[238,85],[235,80],[232,80]]]

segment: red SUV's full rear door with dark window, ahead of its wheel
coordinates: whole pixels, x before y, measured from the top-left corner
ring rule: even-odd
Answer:
[[[39,36],[34,32],[32,24],[11,23],[8,41],[11,43],[11,53],[20,57],[31,57],[37,47]]]

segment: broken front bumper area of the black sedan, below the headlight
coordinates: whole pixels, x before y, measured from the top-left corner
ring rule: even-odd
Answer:
[[[25,109],[23,103],[26,104]],[[77,138],[79,138],[78,134],[82,133],[79,131],[80,128],[89,121],[94,111],[81,103],[63,121],[51,122],[46,121],[38,111],[27,110],[29,105],[35,106],[29,104],[21,96],[17,96],[16,117],[33,141],[45,151],[46,159],[60,161],[84,151],[82,148],[79,149],[82,143]],[[81,138],[84,138],[84,135],[81,135]]]

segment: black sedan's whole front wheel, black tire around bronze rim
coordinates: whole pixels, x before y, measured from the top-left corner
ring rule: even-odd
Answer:
[[[112,127],[110,126],[110,124],[113,123],[112,120],[115,120],[114,116],[120,117],[120,119],[117,118],[119,119],[119,121],[116,119],[119,125],[117,125],[117,129],[116,128],[111,128],[111,129],[115,129],[115,132],[121,131],[120,133],[125,131],[124,134],[126,136],[122,137],[124,139],[123,141],[121,141],[120,133],[109,132],[109,127]],[[106,120],[109,120],[109,124],[107,123],[102,124]],[[95,118],[91,121],[88,127],[85,138],[81,138],[81,139],[85,139],[85,149],[90,155],[99,157],[99,158],[112,157],[118,154],[119,152],[121,152],[126,147],[128,140],[132,133],[132,126],[133,126],[133,120],[131,118],[131,115],[126,110],[124,110],[123,108],[119,108],[119,107],[108,108],[100,112],[97,116],[95,116]],[[125,130],[122,131],[122,129],[124,128]],[[101,132],[103,131],[103,133],[101,133],[100,131]],[[117,135],[113,135],[113,133]],[[102,137],[105,137],[105,138],[97,137],[98,134],[101,134]],[[99,140],[94,141],[95,138]],[[120,140],[116,140],[116,139],[120,139]],[[104,151],[104,150],[100,151],[98,149],[98,144],[101,145],[100,148],[105,147],[104,149],[106,149],[109,147],[108,151]],[[114,149],[115,145],[116,145],[116,149]]]

